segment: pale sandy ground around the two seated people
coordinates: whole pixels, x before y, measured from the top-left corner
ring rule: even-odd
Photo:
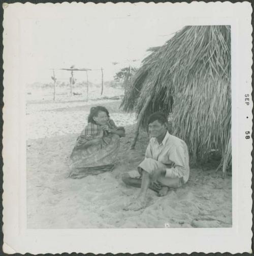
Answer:
[[[188,183],[165,197],[149,190],[146,209],[122,210],[139,189],[125,186],[121,174],[142,161],[148,137],[141,132],[135,150],[129,150],[135,118],[120,111],[119,104],[120,100],[27,104],[27,227],[232,226],[231,177],[222,178],[212,165],[192,168]],[[67,178],[67,159],[92,105],[107,107],[115,123],[126,127],[117,165],[112,172]]]

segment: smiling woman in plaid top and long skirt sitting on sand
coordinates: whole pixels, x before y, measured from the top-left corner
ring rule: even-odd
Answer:
[[[124,136],[124,128],[115,125],[106,108],[91,108],[88,124],[78,137],[70,156],[70,177],[82,178],[112,170],[120,137]]]

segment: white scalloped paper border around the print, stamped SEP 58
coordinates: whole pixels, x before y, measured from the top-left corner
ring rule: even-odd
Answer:
[[[168,12],[182,25],[221,25],[232,28],[232,228],[147,229],[26,229],[25,81],[29,36],[22,36],[27,19],[70,19],[86,15],[142,11],[151,18]],[[250,3],[118,3],[11,4],[4,11],[4,250],[6,252],[250,252],[251,150],[245,132],[252,127]],[[168,25],[168,24],[167,24]],[[25,33],[25,32],[24,32]],[[27,42],[27,44],[26,44]],[[38,64],[39,65],[39,64]],[[25,68],[24,68],[25,67]],[[246,116],[249,118],[247,119]],[[223,207],[223,206],[221,206]]]

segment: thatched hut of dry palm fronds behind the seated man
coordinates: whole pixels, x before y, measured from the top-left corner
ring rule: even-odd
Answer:
[[[231,165],[230,26],[187,26],[151,54],[126,89],[122,108],[147,117],[171,116],[172,133],[188,145],[193,162],[221,152],[223,171]],[[133,146],[135,145],[135,141]]]

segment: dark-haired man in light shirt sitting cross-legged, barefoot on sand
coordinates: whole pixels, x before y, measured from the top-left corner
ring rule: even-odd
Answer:
[[[148,188],[158,196],[165,196],[169,189],[175,189],[187,182],[189,158],[185,142],[167,131],[167,118],[154,113],[148,119],[148,133],[151,137],[145,152],[145,159],[138,170],[122,175],[122,181],[134,187],[141,187],[139,196],[124,210],[138,211],[145,207]]]

